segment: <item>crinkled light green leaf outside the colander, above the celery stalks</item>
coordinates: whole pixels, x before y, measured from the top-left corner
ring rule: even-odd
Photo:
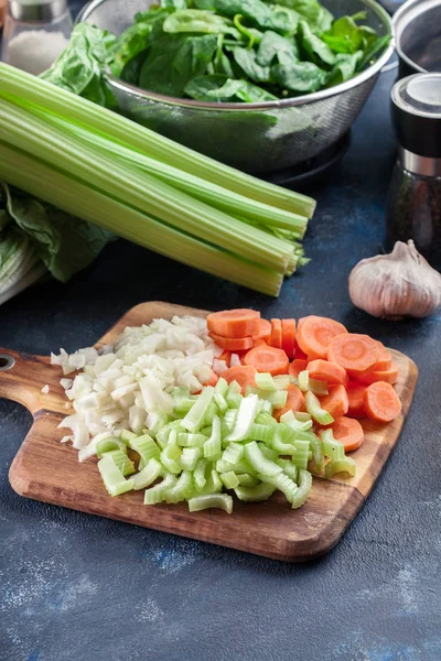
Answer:
[[[79,23],[65,51],[40,77],[94,104],[115,109],[117,102],[105,79],[114,42],[115,37],[110,39],[107,32]]]

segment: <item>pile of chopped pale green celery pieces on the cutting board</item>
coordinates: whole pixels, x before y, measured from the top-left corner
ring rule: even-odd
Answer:
[[[279,490],[295,509],[311,490],[312,458],[314,470],[324,470],[324,477],[355,475],[354,459],[345,456],[332,431],[321,436],[312,431],[315,423],[333,422],[312,391],[306,391],[308,413],[288,411],[280,422],[272,418],[273,409],[287,401],[287,379],[258,375],[258,388],[246,397],[236,381],[228,384],[222,378],[198,395],[175,388],[173,415],[158,413],[141,436],[123,430],[94,448],[108,492],[147,489],[146,505],[185,500],[190,511],[222,508],[232,513],[233,498],[224,489],[251,502]],[[138,472],[128,448],[137,454]]]

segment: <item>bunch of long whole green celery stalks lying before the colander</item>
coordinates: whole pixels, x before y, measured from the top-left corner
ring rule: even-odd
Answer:
[[[315,203],[0,64],[0,178],[262,293],[304,262]]]

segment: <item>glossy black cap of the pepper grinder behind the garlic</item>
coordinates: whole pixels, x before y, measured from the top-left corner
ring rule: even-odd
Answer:
[[[400,147],[441,159],[441,74],[416,74],[391,90],[391,112]]]

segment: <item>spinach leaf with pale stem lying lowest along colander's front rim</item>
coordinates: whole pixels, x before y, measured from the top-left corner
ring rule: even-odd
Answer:
[[[270,101],[277,100],[269,91],[247,80],[232,80],[214,74],[194,78],[185,87],[185,94],[200,101]]]

